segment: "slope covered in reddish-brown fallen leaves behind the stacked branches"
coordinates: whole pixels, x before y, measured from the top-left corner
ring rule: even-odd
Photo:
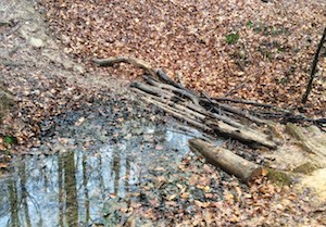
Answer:
[[[323,0],[40,3],[64,51],[80,61],[136,56],[214,97],[292,109],[305,90],[326,24]],[[326,113],[325,67],[323,53],[306,104],[312,115]],[[129,68],[126,77],[138,75]]]

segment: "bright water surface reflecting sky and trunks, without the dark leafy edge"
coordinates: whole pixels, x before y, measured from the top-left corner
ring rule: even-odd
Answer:
[[[0,179],[0,226],[83,226],[101,217],[111,198],[137,191],[149,165],[166,165],[188,151],[189,136],[147,131],[155,143],[135,137],[97,150],[16,161],[12,175]]]

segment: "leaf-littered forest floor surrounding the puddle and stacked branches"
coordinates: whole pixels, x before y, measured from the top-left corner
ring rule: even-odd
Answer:
[[[3,0],[0,9],[0,80],[18,106],[4,121],[2,135],[12,135],[20,144],[12,148],[3,137],[0,150],[28,153],[42,146],[55,116],[80,109],[100,112],[101,103],[116,104],[115,112],[125,113],[130,111],[126,106],[138,103],[126,85],[141,72],[127,65],[98,68],[89,62],[93,56],[136,56],[198,91],[294,110],[324,28],[326,5],[317,0]],[[310,116],[325,117],[326,58],[319,65],[305,110]],[[158,117],[160,124],[167,121],[161,112]],[[83,123],[78,118],[76,125],[78,121]],[[0,153],[1,161],[9,156]],[[142,193],[115,203],[121,205],[114,211],[121,218],[117,225],[326,225],[325,209],[311,204],[309,191],[262,179],[247,187],[223,177],[197,155],[152,171],[152,178],[140,186]]]

